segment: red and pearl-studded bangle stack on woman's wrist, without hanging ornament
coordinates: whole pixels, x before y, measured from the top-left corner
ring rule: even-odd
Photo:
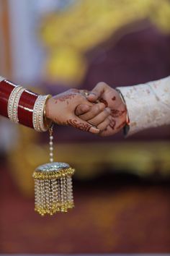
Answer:
[[[0,77],[0,114],[16,124],[45,132],[52,121],[46,119],[45,104],[50,95],[37,95]]]

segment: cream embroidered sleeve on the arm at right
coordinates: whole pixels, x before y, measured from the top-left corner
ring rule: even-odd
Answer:
[[[119,87],[130,119],[128,135],[170,124],[170,76],[146,84]]]

